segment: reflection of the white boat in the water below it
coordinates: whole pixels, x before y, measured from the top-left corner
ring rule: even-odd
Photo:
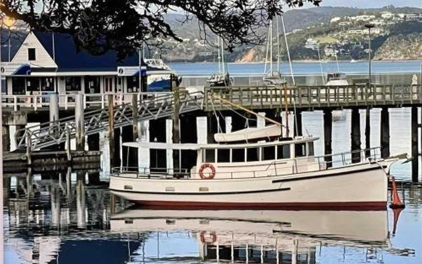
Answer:
[[[390,246],[385,210],[131,208],[110,218],[110,231],[115,233],[163,232],[169,235],[180,230],[196,237],[202,261],[316,263],[320,245],[370,249]]]

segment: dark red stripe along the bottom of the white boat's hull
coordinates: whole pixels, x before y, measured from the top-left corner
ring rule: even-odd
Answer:
[[[255,208],[255,209],[312,209],[312,210],[385,210],[386,201],[383,202],[324,202],[324,203],[227,203],[227,202],[184,202],[184,201],[133,201],[148,207],[166,208]],[[162,209],[162,208],[161,208]]]

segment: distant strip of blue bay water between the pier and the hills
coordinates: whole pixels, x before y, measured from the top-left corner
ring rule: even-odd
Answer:
[[[373,61],[372,73],[420,73],[422,61]],[[217,63],[169,63],[169,66],[180,75],[211,75],[218,71]],[[264,63],[229,63],[228,68],[231,75],[262,75],[264,73]],[[295,75],[320,75],[321,68],[319,62],[294,62],[292,64]],[[338,69],[345,74],[367,74],[368,62],[359,61],[350,63],[339,61]],[[337,63],[322,63],[324,73],[337,72]],[[284,62],[281,65],[283,74],[290,74],[289,64]]]

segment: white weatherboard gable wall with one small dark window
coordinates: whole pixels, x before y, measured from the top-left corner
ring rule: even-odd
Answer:
[[[36,60],[28,61],[28,48],[35,48],[35,58]],[[48,54],[44,49],[41,42],[38,38],[30,32],[23,41],[18,52],[13,57],[12,63],[29,63],[31,67],[46,67],[46,68],[56,68],[57,64],[54,62],[53,58]]]

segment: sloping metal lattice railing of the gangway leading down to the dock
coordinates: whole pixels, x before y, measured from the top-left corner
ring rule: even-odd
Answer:
[[[187,113],[202,109],[203,94],[180,93],[179,113]],[[173,113],[175,98],[173,94],[155,94],[138,101],[136,111],[138,121],[157,119],[170,116]],[[133,125],[134,108],[131,103],[116,105],[113,108],[114,128]],[[108,109],[97,109],[84,113],[85,135],[107,131],[109,124]],[[30,147],[30,149],[44,148],[68,141],[76,136],[76,122],[74,116],[61,118],[57,121],[46,122],[40,125],[27,127],[16,132],[17,148]]]

